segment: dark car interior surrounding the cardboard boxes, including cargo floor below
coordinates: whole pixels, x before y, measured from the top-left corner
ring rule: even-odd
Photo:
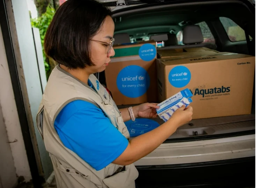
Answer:
[[[255,33],[255,17],[246,6],[242,6],[241,1],[163,5],[143,11],[133,7],[126,11],[117,10],[113,20],[115,44],[154,40],[158,46],[157,51],[207,47],[220,52],[255,55],[255,39],[252,38]],[[100,73],[99,80],[105,84],[104,72]],[[166,142],[254,134],[255,93],[251,109],[249,115],[192,120],[188,125],[180,127]],[[163,123],[161,119],[156,121]]]

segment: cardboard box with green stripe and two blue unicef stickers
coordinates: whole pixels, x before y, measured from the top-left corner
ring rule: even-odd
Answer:
[[[155,42],[116,45],[114,50],[105,77],[115,103],[157,102]]]

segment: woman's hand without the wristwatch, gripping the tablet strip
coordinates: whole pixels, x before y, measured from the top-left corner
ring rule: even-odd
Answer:
[[[180,127],[180,126],[183,126],[184,124],[190,122],[192,120],[192,115],[193,115],[193,108],[191,106],[187,106],[185,108],[185,105],[183,105],[182,107],[178,108],[173,113],[173,115],[171,116],[171,118],[169,120],[175,121],[175,124],[178,127]]]

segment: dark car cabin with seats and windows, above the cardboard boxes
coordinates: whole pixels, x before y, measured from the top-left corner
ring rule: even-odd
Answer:
[[[204,46],[218,51],[248,54],[247,49],[244,49],[247,45],[246,40],[231,41],[225,27],[238,25],[243,28],[247,23],[248,30],[253,34],[254,20],[254,17],[248,15],[245,7],[239,7],[236,3],[153,9],[115,17],[115,44],[156,39],[157,42],[164,41],[164,46],[168,48],[184,48],[182,44],[187,45],[185,47]],[[179,32],[183,33],[183,40],[179,41],[181,43],[176,42],[174,37]],[[203,39],[212,40],[207,42]],[[253,43],[255,44],[254,40],[250,43],[251,47],[255,46]]]

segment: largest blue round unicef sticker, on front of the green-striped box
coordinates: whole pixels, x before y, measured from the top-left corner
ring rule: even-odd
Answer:
[[[137,65],[123,68],[117,75],[118,90],[126,97],[137,98],[144,95],[150,85],[147,71]]]

